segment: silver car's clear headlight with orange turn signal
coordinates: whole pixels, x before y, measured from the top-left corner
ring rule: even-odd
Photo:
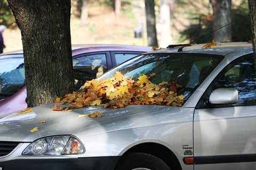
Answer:
[[[83,144],[75,137],[54,136],[34,141],[22,152],[22,155],[68,155],[84,152]]]

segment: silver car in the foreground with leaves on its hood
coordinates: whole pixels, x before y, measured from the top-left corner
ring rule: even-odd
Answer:
[[[255,169],[256,80],[252,44],[170,46],[106,72],[175,82],[181,107],[54,103],[0,117],[0,169]],[[83,117],[93,112],[102,117]]]

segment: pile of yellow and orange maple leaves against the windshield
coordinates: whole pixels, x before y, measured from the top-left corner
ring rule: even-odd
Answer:
[[[103,106],[122,108],[127,105],[166,105],[182,106],[183,95],[177,95],[178,84],[162,82],[154,84],[149,81],[155,74],[141,75],[138,81],[124,77],[116,72],[113,78],[86,81],[83,89],[73,94],[57,98],[55,103],[69,104],[69,107],[58,108],[57,104],[53,111],[67,111],[69,109],[84,106]]]

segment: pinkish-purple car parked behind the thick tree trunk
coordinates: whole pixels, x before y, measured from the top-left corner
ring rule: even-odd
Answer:
[[[152,47],[129,45],[73,45],[75,90]],[[23,51],[0,55],[0,115],[27,108]]]

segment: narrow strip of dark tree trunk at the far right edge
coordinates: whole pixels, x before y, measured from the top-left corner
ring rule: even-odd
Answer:
[[[254,63],[256,64],[256,1],[248,0],[248,6],[251,15],[251,28],[252,28],[252,43],[254,52]],[[256,66],[255,66],[256,72]]]

